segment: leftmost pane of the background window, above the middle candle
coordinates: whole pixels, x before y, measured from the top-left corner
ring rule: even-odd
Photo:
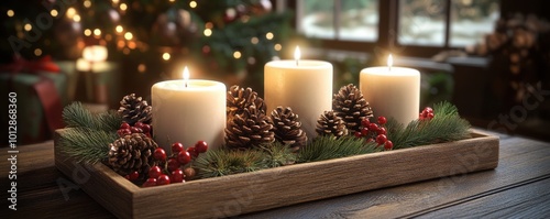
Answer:
[[[334,39],[334,1],[298,1],[299,31],[306,36]]]

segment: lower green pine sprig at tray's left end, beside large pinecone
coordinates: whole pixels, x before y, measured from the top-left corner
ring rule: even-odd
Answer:
[[[61,151],[75,157],[77,162],[97,163],[107,158],[109,144],[117,140],[113,132],[69,128],[61,132]]]

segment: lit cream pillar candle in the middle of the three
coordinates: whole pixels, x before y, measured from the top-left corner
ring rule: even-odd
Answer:
[[[290,107],[300,118],[309,139],[317,135],[317,119],[332,109],[332,65],[322,61],[272,61],[264,69],[264,99],[267,113],[278,106]]]

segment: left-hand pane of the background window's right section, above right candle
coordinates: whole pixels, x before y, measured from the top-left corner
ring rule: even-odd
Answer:
[[[400,44],[444,45],[446,1],[399,0]]]

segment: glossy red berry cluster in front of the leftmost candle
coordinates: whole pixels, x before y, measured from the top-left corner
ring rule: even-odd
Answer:
[[[189,146],[185,150],[182,143],[176,142],[172,144],[170,150],[172,155],[169,157],[166,155],[164,149],[158,147],[155,150],[153,157],[160,161],[160,165],[148,169],[148,178],[143,183],[143,187],[184,183],[185,179],[193,178],[195,169],[186,167],[186,165],[200,153],[208,151],[208,144],[205,141],[198,141],[195,146]],[[129,176],[129,179],[132,179],[132,177]]]

